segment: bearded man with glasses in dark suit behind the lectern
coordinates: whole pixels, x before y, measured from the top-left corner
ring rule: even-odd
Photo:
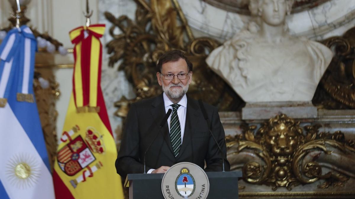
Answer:
[[[222,171],[222,154],[209,132],[199,103],[186,96],[192,79],[192,63],[179,50],[166,52],[159,59],[157,78],[163,93],[133,103],[127,115],[120,151],[116,159],[117,173],[143,173],[144,152],[159,131],[168,109],[168,121],[146,154],[147,173],[164,173],[170,166],[191,162],[205,171]],[[204,103],[211,130],[226,157],[224,130],[217,108]],[[225,170],[230,170],[224,160]]]

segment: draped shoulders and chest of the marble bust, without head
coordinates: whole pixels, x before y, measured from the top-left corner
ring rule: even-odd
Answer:
[[[246,102],[311,101],[331,57],[315,41],[290,37],[271,44],[245,31],[215,49],[207,62]]]

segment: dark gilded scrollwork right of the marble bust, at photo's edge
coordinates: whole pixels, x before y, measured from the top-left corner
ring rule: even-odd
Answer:
[[[355,27],[343,36],[323,41],[335,56],[317,87],[312,102],[327,109],[355,108]]]

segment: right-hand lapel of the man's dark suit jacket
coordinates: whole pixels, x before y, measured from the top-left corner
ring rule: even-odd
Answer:
[[[191,133],[193,131],[191,121],[195,121],[195,118],[197,116],[197,110],[198,106],[196,106],[196,104],[189,97],[187,97],[184,137],[182,138],[182,145],[180,148],[179,155],[176,157],[176,159],[179,159],[181,155],[184,154],[186,147],[191,144]]]

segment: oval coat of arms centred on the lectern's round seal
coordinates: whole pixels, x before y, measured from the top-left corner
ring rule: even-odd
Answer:
[[[189,168],[181,168],[180,174],[175,181],[175,189],[182,198],[187,198],[195,192],[195,179],[190,174]]]

